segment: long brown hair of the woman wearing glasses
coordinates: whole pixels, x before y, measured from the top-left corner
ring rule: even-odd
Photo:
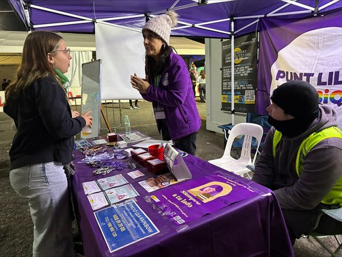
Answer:
[[[6,88],[6,102],[18,99],[23,90],[42,77],[55,76],[60,83],[57,73],[48,61],[48,53],[54,56],[60,46],[62,36],[47,31],[31,32],[25,39],[21,65],[16,73],[14,82]],[[62,84],[60,84],[62,86]]]

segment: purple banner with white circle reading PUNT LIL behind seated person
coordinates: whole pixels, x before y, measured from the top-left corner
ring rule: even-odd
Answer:
[[[342,11],[308,19],[261,19],[257,113],[289,80],[309,82],[319,102],[334,106],[342,127]],[[305,99],[303,99],[305,101]]]

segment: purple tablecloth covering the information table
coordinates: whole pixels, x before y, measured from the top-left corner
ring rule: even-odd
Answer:
[[[269,189],[232,174],[233,178],[250,184],[252,188],[261,192],[261,195],[226,206],[186,223],[184,226],[176,226],[166,217],[162,217],[153,205],[143,199],[144,195],[149,195],[149,193],[137,184],[137,181],[145,180],[151,175],[146,172],[146,176],[133,180],[127,175],[129,171],[132,171],[129,168],[119,173],[122,173],[124,178],[140,193],[140,196],[136,198],[137,204],[155,223],[160,232],[110,253],[96,223],[94,211],[82,188],[82,182],[97,180],[103,175],[92,175],[94,168],[77,163],[84,157],[80,151],[76,150],[74,155],[77,171],[72,180],[73,195],[86,257],[294,256],[280,206],[276,196]],[[189,155],[184,158],[184,161],[192,172],[193,178],[220,171],[220,168],[194,156]],[[143,168],[138,169],[145,171]],[[117,173],[118,171],[112,171],[106,176]]]

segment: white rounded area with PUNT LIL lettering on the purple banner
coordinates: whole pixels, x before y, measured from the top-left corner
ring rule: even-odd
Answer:
[[[342,35],[342,27],[311,30],[281,49],[271,67],[270,94],[289,80],[305,80],[317,89],[320,103],[337,109],[337,122],[342,127],[342,46],[337,35]]]

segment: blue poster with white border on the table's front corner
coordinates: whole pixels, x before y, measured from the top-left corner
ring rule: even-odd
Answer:
[[[94,212],[94,215],[109,252],[159,233],[155,224],[132,199]]]

